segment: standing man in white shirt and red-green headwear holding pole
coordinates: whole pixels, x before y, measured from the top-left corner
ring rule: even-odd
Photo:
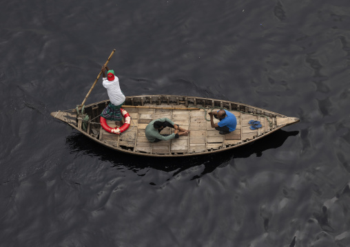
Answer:
[[[105,77],[105,70],[107,69],[107,78]],[[110,104],[102,111],[101,116],[107,120],[116,121],[116,126],[123,125],[123,117],[121,116],[121,106],[125,102],[125,96],[121,92],[119,86],[119,78],[114,75],[114,71],[103,66],[102,69],[103,81],[102,85],[107,89],[108,97],[110,97]]]

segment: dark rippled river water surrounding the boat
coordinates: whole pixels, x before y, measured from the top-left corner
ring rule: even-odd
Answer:
[[[1,1],[0,246],[350,246],[349,1]],[[300,123],[198,158],[99,146],[51,111],[126,96]],[[87,103],[107,99],[101,79]]]

